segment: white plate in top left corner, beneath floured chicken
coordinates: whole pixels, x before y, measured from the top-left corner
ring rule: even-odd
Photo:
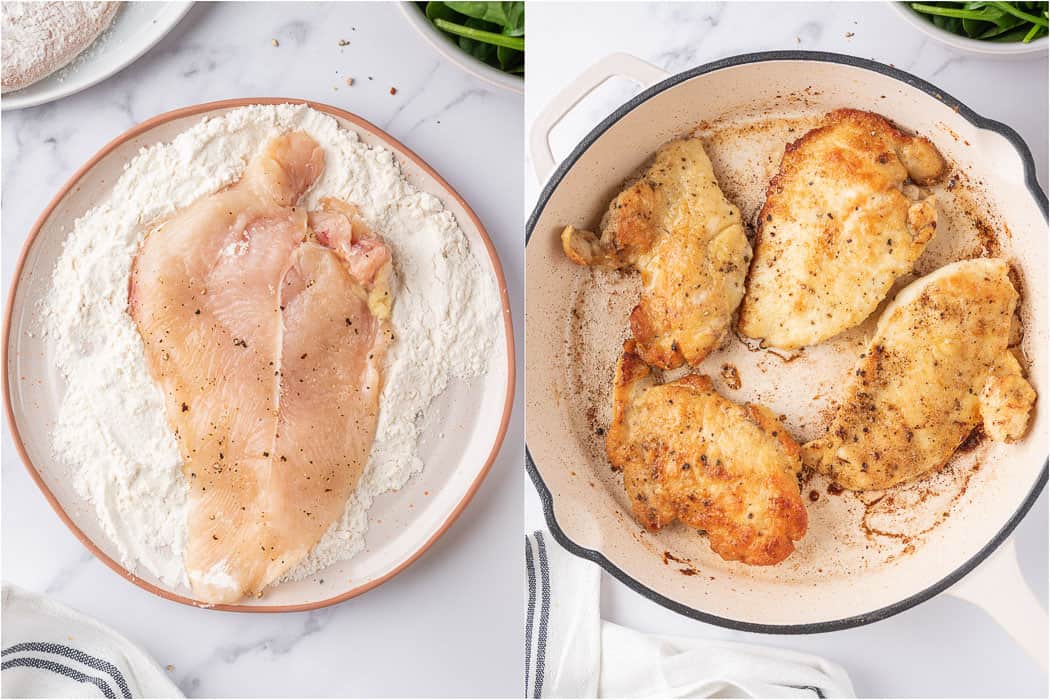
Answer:
[[[64,68],[4,93],[4,111],[35,107],[101,83],[129,66],[183,19],[192,2],[125,2],[112,24]]]

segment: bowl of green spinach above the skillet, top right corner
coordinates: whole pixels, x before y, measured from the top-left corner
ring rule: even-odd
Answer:
[[[1046,51],[1050,3],[895,2],[912,26],[942,43],[976,54],[1024,55]]]

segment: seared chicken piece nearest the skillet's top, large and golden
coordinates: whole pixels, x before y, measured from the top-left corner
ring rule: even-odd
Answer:
[[[759,213],[738,328],[793,349],[850,328],[937,229],[944,158],[878,114],[840,109],[789,144]]]

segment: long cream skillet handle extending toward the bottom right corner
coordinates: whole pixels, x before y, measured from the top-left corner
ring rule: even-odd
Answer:
[[[1014,641],[1047,670],[1047,612],[1043,610],[1017,565],[1013,537],[961,581],[948,594],[971,602],[991,615]]]

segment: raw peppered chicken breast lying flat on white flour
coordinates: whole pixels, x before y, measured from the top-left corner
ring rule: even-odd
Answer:
[[[129,311],[190,483],[186,568],[207,602],[259,595],[301,560],[375,437],[391,256],[353,208],[298,206],[323,167],[310,136],[274,139],[238,183],[151,231],[132,267]]]

